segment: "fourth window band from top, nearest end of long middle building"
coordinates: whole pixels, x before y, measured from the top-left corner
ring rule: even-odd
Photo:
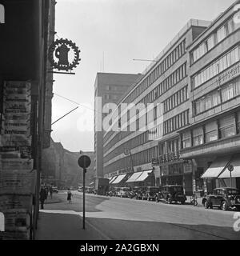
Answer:
[[[170,134],[174,130],[178,130],[189,124],[189,110],[182,112],[181,114],[175,115],[163,122],[163,134]]]

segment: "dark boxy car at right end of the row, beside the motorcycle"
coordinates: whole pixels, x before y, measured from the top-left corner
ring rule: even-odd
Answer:
[[[162,186],[161,197],[169,204],[172,202],[181,202],[184,204],[186,202],[186,195],[183,192],[183,186],[180,185]]]

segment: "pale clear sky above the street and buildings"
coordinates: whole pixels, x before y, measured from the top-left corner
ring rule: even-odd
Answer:
[[[74,75],[54,74],[54,142],[66,150],[94,150],[94,82],[98,72],[138,74],[190,18],[212,21],[234,0],[58,0],[57,38],[78,46]],[[58,94],[58,95],[57,95]],[[70,102],[64,98],[68,98]],[[76,103],[78,104],[76,104]]]

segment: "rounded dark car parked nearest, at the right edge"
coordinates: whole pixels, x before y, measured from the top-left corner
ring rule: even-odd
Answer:
[[[240,190],[232,187],[216,188],[213,193],[202,198],[202,204],[206,209],[219,207],[222,210],[228,210],[236,207],[240,210]]]

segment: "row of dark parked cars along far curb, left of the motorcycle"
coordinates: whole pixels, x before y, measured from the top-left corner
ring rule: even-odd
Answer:
[[[166,201],[168,203],[184,204],[186,202],[186,195],[183,192],[183,187],[178,185],[162,186],[134,186],[133,190],[130,187],[118,187],[110,190],[109,196],[117,196],[121,198],[134,198],[137,200],[148,201]]]

